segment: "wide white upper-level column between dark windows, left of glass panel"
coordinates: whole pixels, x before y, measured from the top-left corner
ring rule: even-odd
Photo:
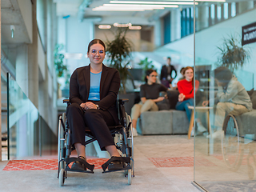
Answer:
[[[179,9],[170,11],[170,41],[181,38],[181,11]]]

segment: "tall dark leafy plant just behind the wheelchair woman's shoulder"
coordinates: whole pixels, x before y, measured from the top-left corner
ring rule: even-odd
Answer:
[[[110,66],[117,69],[121,78],[120,92],[126,94],[126,80],[130,76],[129,64],[131,59],[132,43],[126,38],[128,28],[118,28],[114,40],[106,42],[106,56]]]

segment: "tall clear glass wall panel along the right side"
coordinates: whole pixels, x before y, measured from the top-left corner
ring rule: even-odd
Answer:
[[[200,82],[194,108],[194,184],[207,191],[253,191],[256,5],[199,3],[196,9],[198,26],[210,27],[194,34],[195,77]]]

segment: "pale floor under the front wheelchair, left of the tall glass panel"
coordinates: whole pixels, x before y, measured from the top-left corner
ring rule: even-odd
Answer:
[[[199,191],[193,181],[194,138],[186,135],[134,138],[135,177],[127,184],[123,172],[94,174],[68,172],[65,186],[58,184],[57,170],[3,170],[0,191]],[[53,157],[56,158],[56,157]]]

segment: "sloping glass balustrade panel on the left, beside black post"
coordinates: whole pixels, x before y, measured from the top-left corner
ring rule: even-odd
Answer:
[[[57,152],[57,137],[14,78],[7,74],[8,159],[50,155]],[[4,86],[2,86],[4,87]],[[6,159],[2,159],[6,160]]]

